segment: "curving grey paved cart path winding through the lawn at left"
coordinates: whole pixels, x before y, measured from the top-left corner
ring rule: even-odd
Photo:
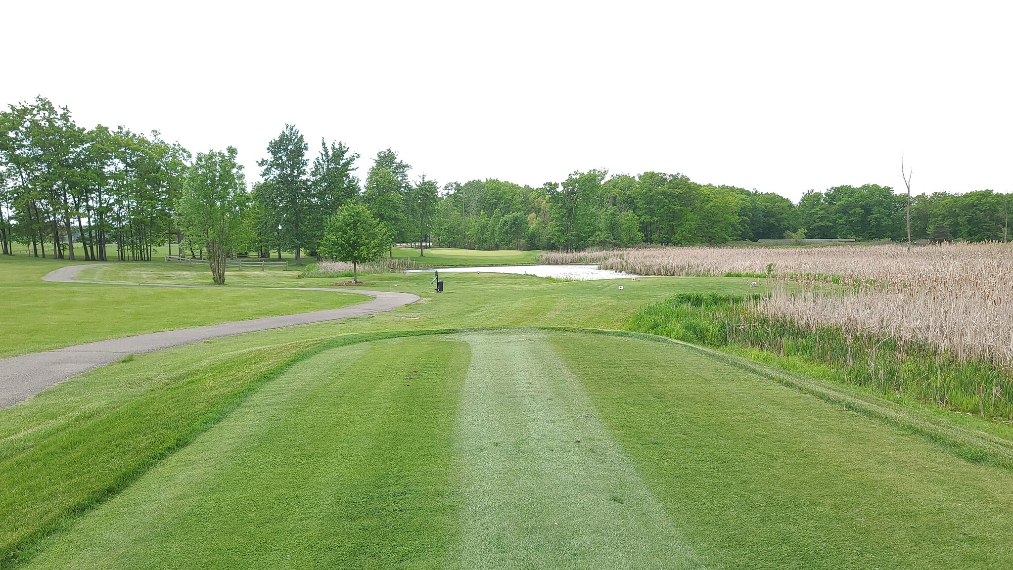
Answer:
[[[47,273],[43,280],[57,282],[75,283],[101,283],[101,284],[131,284],[150,287],[181,287],[181,288],[204,288],[211,289],[210,286],[179,286],[166,283],[133,283],[124,281],[86,281],[75,280],[74,276],[87,267],[94,267],[96,264],[68,265],[60,267]],[[229,336],[232,334],[242,334],[244,332],[254,332],[293,325],[305,325],[309,323],[320,323],[323,321],[333,321],[348,317],[361,317],[390,311],[404,305],[418,301],[418,296],[410,293],[390,293],[385,291],[360,291],[352,289],[327,289],[327,288],[286,288],[300,291],[333,291],[337,293],[358,293],[368,295],[373,300],[342,307],[340,309],[327,309],[324,311],[313,311],[310,313],[300,313],[298,315],[283,315],[280,317],[264,317],[260,319],[249,319],[246,321],[234,321],[218,325],[208,325],[203,327],[191,327],[162,332],[152,332],[127,336],[124,338],[112,338],[109,340],[99,340],[86,344],[76,344],[65,348],[57,348],[46,352],[32,352],[0,359],[0,408],[12,406],[18,402],[42,392],[54,384],[63,382],[81,373],[104,367],[127,354],[139,354],[151,352],[170,346],[217,338],[219,336]]]

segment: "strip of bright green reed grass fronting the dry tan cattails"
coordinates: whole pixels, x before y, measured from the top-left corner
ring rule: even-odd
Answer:
[[[679,294],[648,305],[630,330],[694,344],[760,350],[812,365],[812,374],[881,395],[1013,421],[1013,377],[982,358],[959,359],[924,342],[840,327],[803,327],[756,311],[760,296]]]

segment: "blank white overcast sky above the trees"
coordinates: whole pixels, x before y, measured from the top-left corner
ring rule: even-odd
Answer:
[[[0,102],[255,161],[286,123],[441,183],[1013,187],[1013,2],[0,0]]]

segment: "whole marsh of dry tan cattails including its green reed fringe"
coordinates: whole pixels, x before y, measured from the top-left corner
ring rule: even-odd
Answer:
[[[547,253],[542,260],[641,274],[769,274],[765,295],[736,308],[738,323],[718,327],[709,343],[804,353],[837,367],[845,382],[914,391],[947,407],[1013,419],[1009,244],[930,245],[910,253],[901,245],[671,247]],[[677,313],[667,318],[695,319],[702,312]],[[711,317],[727,321],[732,314]],[[648,326],[643,314],[638,318],[640,330],[665,320],[655,315]],[[682,325],[676,336],[686,335]]]

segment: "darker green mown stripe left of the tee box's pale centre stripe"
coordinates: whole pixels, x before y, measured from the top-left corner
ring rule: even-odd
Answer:
[[[442,567],[467,356],[430,337],[304,359],[30,567]]]

